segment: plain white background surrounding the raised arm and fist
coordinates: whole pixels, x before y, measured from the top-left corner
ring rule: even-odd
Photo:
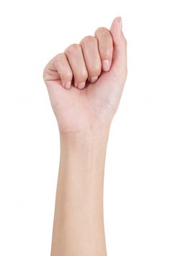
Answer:
[[[168,2],[1,3],[1,256],[50,255],[60,145],[42,70],[117,16],[128,40],[128,80],[107,148],[107,252],[170,255]]]

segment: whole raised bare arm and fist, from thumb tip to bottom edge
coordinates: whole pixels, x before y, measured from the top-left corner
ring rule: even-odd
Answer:
[[[43,70],[61,139],[51,256],[107,255],[104,163],[126,77],[120,17],[68,46]]]

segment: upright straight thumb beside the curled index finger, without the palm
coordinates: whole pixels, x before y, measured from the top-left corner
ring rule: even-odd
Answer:
[[[113,39],[113,56],[109,75],[123,79],[127,73],[127,40],[122,33],[121,17],[113,20],[109,31]]]

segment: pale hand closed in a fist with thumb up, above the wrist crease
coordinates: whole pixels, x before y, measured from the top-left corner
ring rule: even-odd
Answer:
[[[122,20],[99,27],[56,55],[43,70],[61,134],[110,125],[127,77]]]

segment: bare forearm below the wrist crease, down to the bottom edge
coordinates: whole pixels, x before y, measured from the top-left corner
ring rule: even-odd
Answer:
[[[104,162],[108,128],[61,135],[51,256],[105,256]]]

